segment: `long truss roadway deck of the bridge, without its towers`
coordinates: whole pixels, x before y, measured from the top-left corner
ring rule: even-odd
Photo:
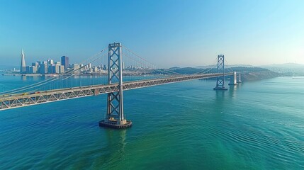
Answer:
[[[225,76],[231,76],[233,72],[226,73]],[[221,73],[215,74],[191,74],[175,77],[166,77],[161,79],[147,79],[140,81],[123,82],[123,90],[139,89],[148,86],[157,86],[161,84],[176,83],[180,81],[188,81],[193,79],[208,79],[223,76]],[[40,91],[35,94],[13,94],[3,95],[0,97],[0,111],[31,106],[35,104],[49,103],[54,101],[62,101],[72,98],[97,96],[99,94],[108,94],[118,91],[118,84],[81,86],[67,89],[54,89],[49,91]]]

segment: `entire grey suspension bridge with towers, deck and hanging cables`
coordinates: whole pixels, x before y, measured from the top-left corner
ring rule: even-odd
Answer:
[[[77,69],[69,69],[57,77],[1,92],[0,111],[72,98],[107,94],[106,116],[104,120],[99,122],[99,125],[109,128],[128,128],[132,125],[132,122],[125,120],[123,111],[123,91],[125,90],[190,81],[193,79],[216,78],[214,90],[223,91],[227,90],[225,88],[225,77],[230,77],[230,85],[240,83],[241,80],[240,73],[237,74],[232,69],[225,69],[224,55],[218,55],[217,63],[214,67],[203,69],[194,74],[179,74],[169,69],[158,69],[154,64],[147,62],[144,58],[136,55],[135,52],[122,46],[121,43],[111,43],[108,45],[108,52],[105,51],[106,49],[98,52],[93,57],[89,57],[83,66]],[[133,70],[133,72],[124,70],[125,62],[123,62],[123,57],[128,58],[127,62],[129,62],[130,66],[140,69]],[[101,59],[103,60],[101,61]],[[96,78],[98,81],[93,81],[89,77],[86,79],[86,83],[82,82],[81,84],[80,80],[79,84],[75,83],[75,77],[80,77],[79,72],[96,61],[108,63],[107,71],[99,72]],[[101,63],[98,64],[102,66]],[[210,72],[213,69],[216,72]],[[229,72],[226,72],[227,70]],[[123,79],[127,81],[123,81]]]

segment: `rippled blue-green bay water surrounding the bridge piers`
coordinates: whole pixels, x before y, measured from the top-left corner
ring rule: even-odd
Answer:
[[[0,77],[0,87],[28,84]],[[106,95],[0,111],[0,169],[304,169],[304,79],[213,91],[193,80],[124,91],[133,127],[98,127]]]

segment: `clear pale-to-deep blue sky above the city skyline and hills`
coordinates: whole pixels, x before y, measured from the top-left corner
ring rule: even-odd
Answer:
[[[304,1],[0,0],[1,65],[67,55],[77,63],[122,42],[161,67],[304,64]]]

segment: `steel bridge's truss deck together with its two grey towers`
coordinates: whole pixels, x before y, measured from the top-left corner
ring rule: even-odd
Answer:
[[[123,91],[125,90],[139,89],[149,86],[170,84],[181,81],[189,81],[193,79],[208,79],[213,77],[217,77],[217,82],[214,90],[227,90],[225,88],[225,76],[230,76],[230,85],[237,84],[236,72],[225,73],[224,55],[218,55],[217,73],[212,73],[212,74],[196,73],[196,74],[188,74],[188,75],[179,74],[179,75],[159,78],[159,79],[145,79],[140,81],[123,82],[122,55],[123,53],[122,53],[121,43],[114,42],[108,45],[107,84],[78,86],[78,87],[71,87],[66,89],[52,89],[47,91],[36,91],[35,93],[30,93],[30,94],[28,93],[4,94],[3,96],[0,97],[0,111],[4,111],[11,108],[20,108],[24,106],[32,106],[37,104],[54,102],[54,101],[68,100],[72,98],[107,94],[107,112],[105,116],[106,118],[104,120],[101,120],[99,122],[99,125],[109,128],[128,128],[132,125],[132,122],[130,120],[125,119],[125,115],[123,111]],[[124,55],[128,57],[128,55],[126,54]],[[77,72],[77,70],[69,72],[69,74],[72,74],[73,76],[73,72]],[[24,89],[21,88],[21,89],[25,90],[28,88],[24,88]]]

